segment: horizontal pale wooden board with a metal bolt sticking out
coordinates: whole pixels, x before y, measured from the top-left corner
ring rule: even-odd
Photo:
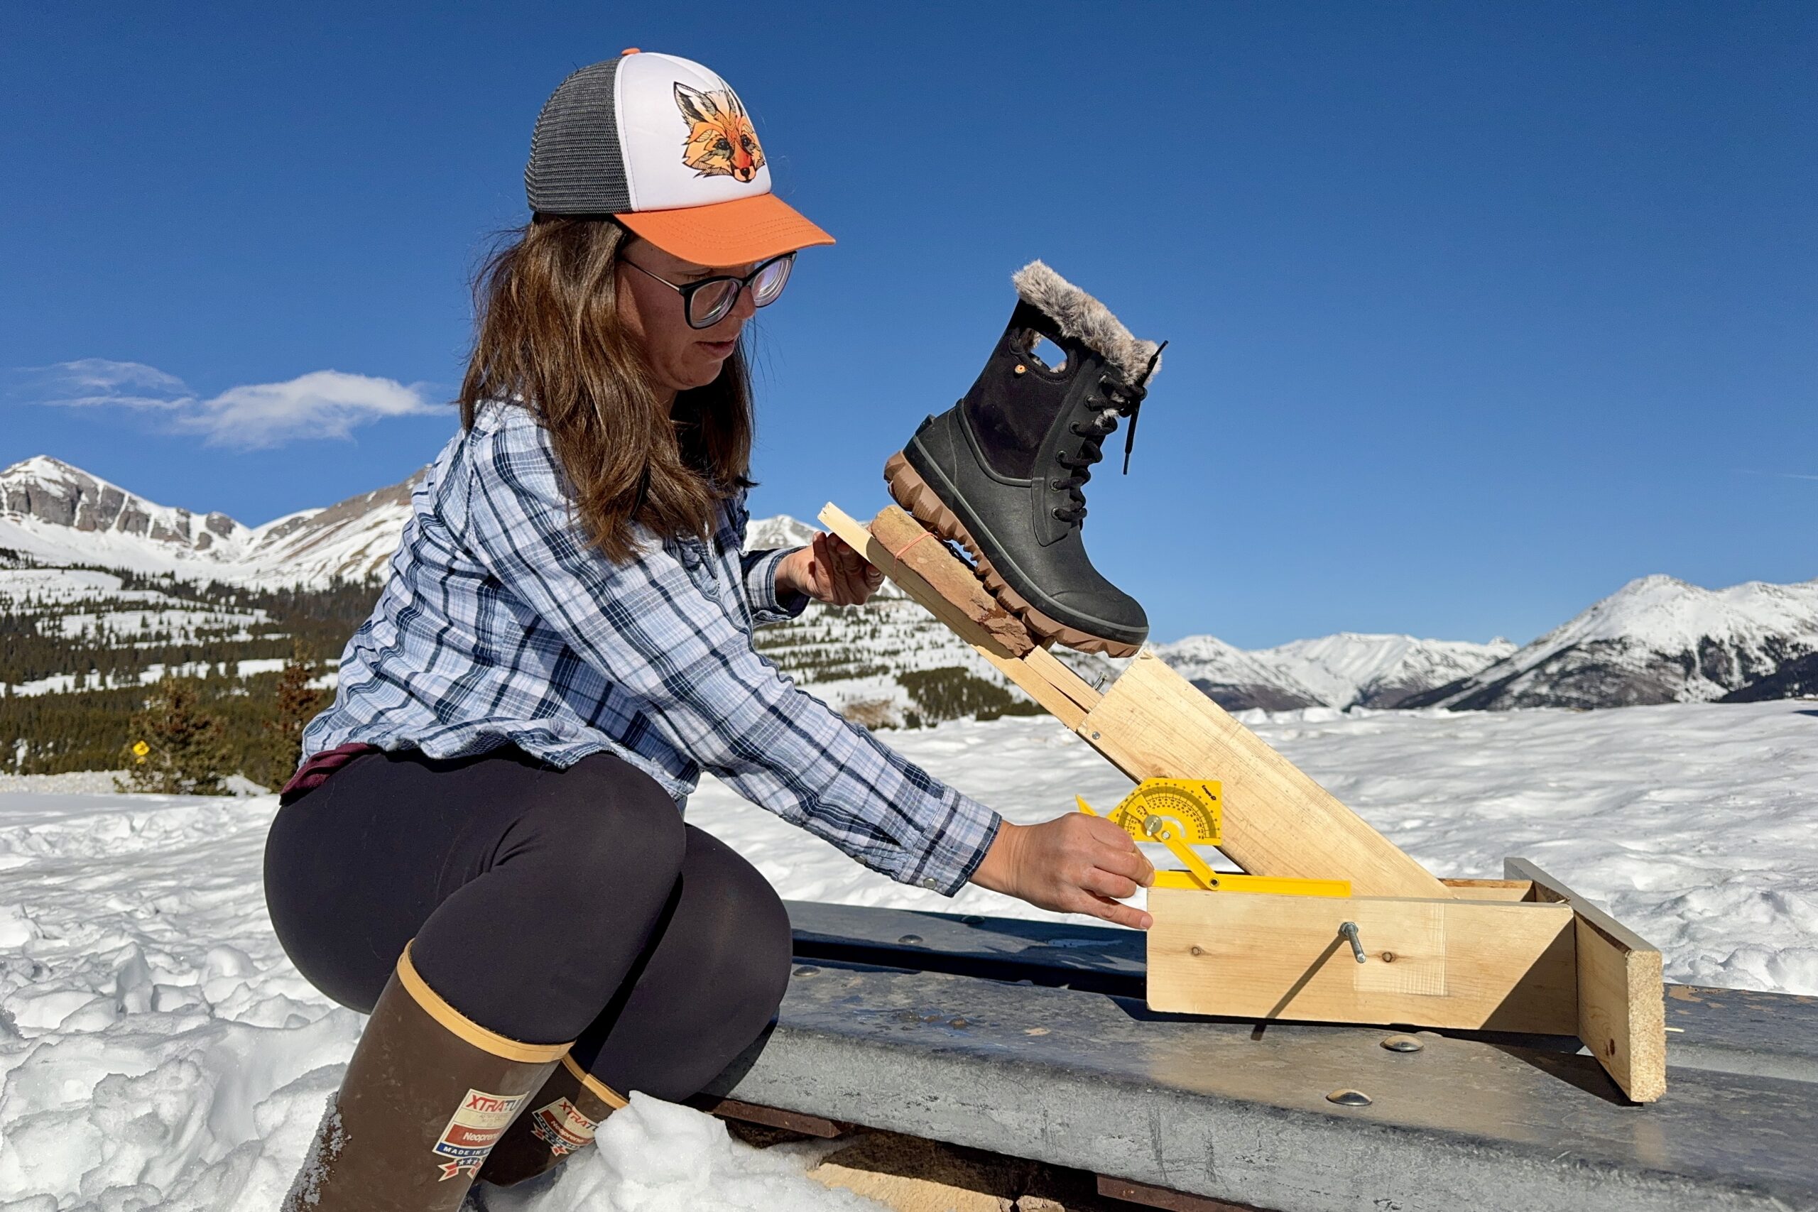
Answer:
[[[1149,889],[1149,1008],[1574,1034],[1569,905]],[[1367,963],[1338,927],[1353,921]]]

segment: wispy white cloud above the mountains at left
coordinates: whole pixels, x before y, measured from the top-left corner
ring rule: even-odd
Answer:
[[[371,374],[311,371],[284,383],[242,383],[209,400],[184,380],[144,362],[82,358],[15,373],[7,392],[29,403],[58,407],[115,405],[156,409],[169,425],[202,434],[209,445],[269,449],[304,438],[347,438],[356,425],[387,416],[440,412],[424,385]]]

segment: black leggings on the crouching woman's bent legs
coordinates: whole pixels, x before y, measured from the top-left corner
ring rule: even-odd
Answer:
[[[296,969],[371,1012],[404,945],[474,1023],[565,1043],[620,1092],[682,1099],[764,1030],[789,916],[642,770],[518,749],[365,754],[278,810],[265,903]]]

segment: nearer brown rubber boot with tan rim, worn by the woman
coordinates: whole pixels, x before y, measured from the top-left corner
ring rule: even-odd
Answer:
[[[567,1048],[464,1018],[405,947],[284,1212],[453,1212]]]

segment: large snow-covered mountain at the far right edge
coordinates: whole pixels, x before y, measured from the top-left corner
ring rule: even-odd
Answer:
[[[1700,589],[1643,576],[1518,652],[1409,705],[1702,703],[1776,678],[1811,652],[1818,652],[1818,580]]]

